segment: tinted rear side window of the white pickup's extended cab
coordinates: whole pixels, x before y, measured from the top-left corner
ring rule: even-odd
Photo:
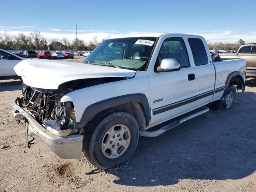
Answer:
[[[188,38],[188,43],[192,51],[195,65],[208,64],[208,57],[202,40],[198,38]]]

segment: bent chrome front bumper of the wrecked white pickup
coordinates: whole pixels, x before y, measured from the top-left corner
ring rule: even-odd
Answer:
[[[70,135],[60,137],[52,134],[28,112],[17,104],[17,98],[12,102],[14,118],[20,120],[23,118],[28,123],[28,135],[44,142],[54,154],[63,159],[79,159],[82,152],[83,135]]]

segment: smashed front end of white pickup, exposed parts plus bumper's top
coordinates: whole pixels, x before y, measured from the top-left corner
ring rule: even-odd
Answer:
[[[65,94],[59,90],[32,88],[24,84],[18,104],[51,133],[58,136],[78,134],[85,122],[76,122],[72,102],[60,102]]]

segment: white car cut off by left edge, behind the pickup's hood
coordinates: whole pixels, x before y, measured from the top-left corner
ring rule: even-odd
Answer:
[[[18,79],[14,66],[24,60],[20,56],[0,49],[0,79]]]

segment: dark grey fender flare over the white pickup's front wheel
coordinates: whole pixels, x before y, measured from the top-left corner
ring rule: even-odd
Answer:
[[[132,102],[138,102],[143,106],[146,124],[148,125],[150,122],[150,107],[148,104],[148,98],[142,93],[117,96],[91,104],[84,110],[80,122],[88,122],[92,120],[96,114],[102,112],[103,110]]]

